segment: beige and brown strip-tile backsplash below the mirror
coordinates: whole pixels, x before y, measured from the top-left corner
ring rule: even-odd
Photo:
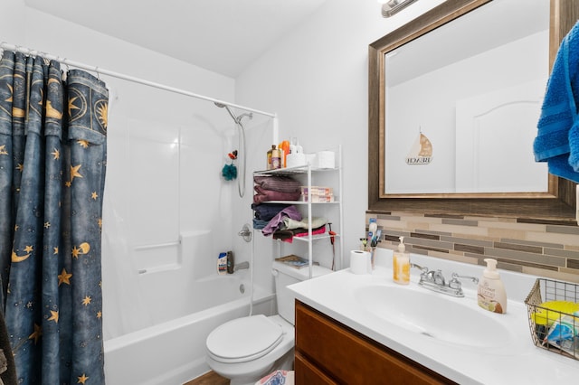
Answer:
[[[379,248],[396,249],[404,237],[411,253],[579,283],[579,227],[569,222],[529,221],[416,212],[366,212],[382,229]]]

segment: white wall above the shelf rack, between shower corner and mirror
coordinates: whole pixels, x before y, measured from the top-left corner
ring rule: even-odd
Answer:
[[[280,140],[298,136],[305,152],[343,146],[346,264],[365,236],[368,45],[441,2],[384,19],[375,0],[327,1],[236,81],[238,103],[277,111]],[[263,157],[268,146],[258,149]]]

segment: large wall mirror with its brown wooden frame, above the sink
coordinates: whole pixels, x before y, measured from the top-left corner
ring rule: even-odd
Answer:
[[[532,139],[576,3],[449,0],[370,44],[368,210],[574,220]]]

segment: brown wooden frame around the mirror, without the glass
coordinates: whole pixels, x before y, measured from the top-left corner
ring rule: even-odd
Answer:
[[[549,175],[550,193],[526,198],[489,197],[388,198],[384,194],[384,53],[467,14],[492,0],[447,0],[368,47],[368,211],[425,212],[448,215],[515,217],[537,221],[575,221],[575,184]],[[579,0],[551,0],[549,69],[565,34],[579,19]],[[491,197],[492,196],[492,197]]]

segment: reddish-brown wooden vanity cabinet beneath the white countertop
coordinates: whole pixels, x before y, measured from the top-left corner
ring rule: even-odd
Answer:
[[[295,326],[296,385],[454,383],[298,300]]]

